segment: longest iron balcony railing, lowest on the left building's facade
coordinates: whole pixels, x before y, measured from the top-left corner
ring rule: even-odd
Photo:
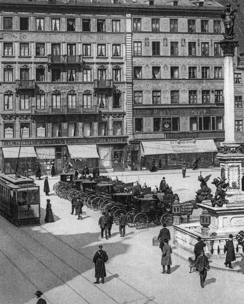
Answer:
[[[68,105],[61,105],[61,106],[43,106],[43,107],[32,107],[33,114],[96,114],[98,113],[98,105],[91,105],[91,106],[68,106]]]

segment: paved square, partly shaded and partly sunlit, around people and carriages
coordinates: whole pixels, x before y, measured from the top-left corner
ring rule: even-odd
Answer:
[[[197,177],[212,174],[211,181],[220,176],[218,168],[121,172],[110,174],[123,181],[159,186],[163,176],[173,187],[180,200],[193,199],[200,188]],[[123,174],[123,175],[122,175]],[[113,225],[109,240],[101,239],[98,219],[100,211],[83,207],[83,218],[71,215],[71,203],[54,194],[52,187],[59,177],[50,177],[50,196],[40,185],[41,225],[14,226],[0,217],[0,304],[34,304],[36,290],[41,290],[47,303],[52,304],[185,304],[185,303],[241,303],[244,285],[244,254],[233,263],[235,271],[218,268],[218,262],[210,259],[214,267],[207,273],[205,288],[200,287],[197,272],[189,273],[189,263],[184,250],[172,241],[172,273],[162,274],[161,250],[152,246],[152,238],[158,236],[161,226],[149,224],[147,229],[137,230],[126,226],[126,236],[120,237],[119,227]],[[45,223],[46,199],[51,199],[54,223]],[[191,221],[198,221],[201,209],[194,210]],[[170,227],[173,238],[173,229]],[[103,244],[109,260],[106,262],[105,284],[94,285],[95,271],[92,258]],[[216,259],[218,260],[218,259]],[[220,261],[222,260],[222,261]]]

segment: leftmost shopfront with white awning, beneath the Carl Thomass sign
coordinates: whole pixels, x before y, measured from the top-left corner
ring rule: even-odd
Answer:
[[[19,161],[18,161],[19,157]],[[2,147],[1,165],[4,174],[17,173],[30,176],[36,170],[37,154],[34,147]]]

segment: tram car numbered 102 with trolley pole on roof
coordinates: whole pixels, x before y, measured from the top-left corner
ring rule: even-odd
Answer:
[[[0,174],[0,214],[16,225],[40,224],[40,188],[32,178]]]

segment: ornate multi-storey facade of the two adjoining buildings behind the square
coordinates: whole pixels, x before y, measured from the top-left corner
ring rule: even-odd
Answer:
[[[34,157],[46,168],[55,162],[58,171],[67,161],[133,170],[152,158],[177,168],[199,155],[214,164],[224,138],[223,6],[188,0],[1,0],[0,6],[2,171],[14,170],[21,136],[22,171],[33,171]]]

